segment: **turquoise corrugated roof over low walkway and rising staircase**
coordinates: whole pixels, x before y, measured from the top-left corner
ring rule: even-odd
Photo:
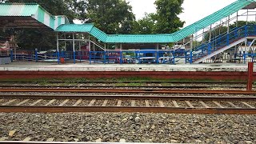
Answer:
[[[63,32],[87,32],[98,38],[102,42],[106,43],[167,43],[178,42],[182,38],[186,38],[190,34],[202,30],[206,26],[210,26],[214,22],[220,21],[222,18],[226,18],[230,14],[234,14],[243,7],[248,6],[250,3],[256,2],[256,0],[238,0],[231,3],[229,6],[224,7],[222,10],[218,10],[214,14],[210,14],[206,18],[202,18],[198,22],[194,22],[190,26],[186,26],[182,30],[178,30],[173,34],[106,34],[92,24],[86,25],[72,25],[60,26],[57,31]],[[68,30],[70,27],[70,30]],[[83,31],[84,30],[84,31]]]

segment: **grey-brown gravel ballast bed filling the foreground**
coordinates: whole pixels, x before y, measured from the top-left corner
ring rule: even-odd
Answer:
[[[0,138],[11,130],[9,140],[256,143],[256,115],[0,113]]]

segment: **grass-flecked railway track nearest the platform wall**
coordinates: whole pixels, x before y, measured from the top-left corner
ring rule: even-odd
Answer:
[[[0,82],[0,88],[62,88],[62,89],[246,89],[246,82],[202,82],[202,81],[46,81],[46,82]],[[254,86],[255,87],[255,86]]]

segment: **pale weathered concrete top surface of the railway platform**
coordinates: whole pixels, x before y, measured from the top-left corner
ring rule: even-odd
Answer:
[[[56,62],[12,62],[7,65],[0,65],[0,71],[234,71],[246,72],[247,64],[237,63],[209,63],[209,64],[183,64],[183,65],[157,65],[157,64],[87,64],[87,63],[65,63],[57,64]],[[256,71],[256,67],[254,67]]]

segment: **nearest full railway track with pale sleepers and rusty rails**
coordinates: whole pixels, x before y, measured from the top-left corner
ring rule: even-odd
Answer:
[[[256,97],[47,96],[4,95],[0,112],[142,112],[178,114],[256,114]]]

